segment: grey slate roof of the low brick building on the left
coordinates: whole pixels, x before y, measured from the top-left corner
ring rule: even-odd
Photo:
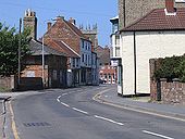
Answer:
[[[42,54],[42,43],[40,41],[32,39],[29,45],[30,45],[32,55],[41,55]],[[66,54],[64,54],[63,52],[57,51],[46,45],[44,45],[44,54],[45,55],[52,54],[52,55],[66,56]]]

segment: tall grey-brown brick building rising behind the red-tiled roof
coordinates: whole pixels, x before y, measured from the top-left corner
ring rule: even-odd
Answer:
[[[175,8],[185,7],[182,0],[174,1]],[[119,0],[120,29],[160,8],[165,8],[165,0]]]

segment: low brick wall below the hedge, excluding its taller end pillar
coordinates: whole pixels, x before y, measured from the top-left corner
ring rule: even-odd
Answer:
[[[185,104],[185,84],[161,81],[161,100],[163,103]]]

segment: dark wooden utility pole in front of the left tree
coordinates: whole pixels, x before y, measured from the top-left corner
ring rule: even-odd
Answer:
[[[21,28],[22,28],[22,18],[20,18],[20,37],[18,37],[18,86],[21,80]]]

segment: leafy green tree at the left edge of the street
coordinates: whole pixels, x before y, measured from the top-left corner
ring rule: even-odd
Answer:
[[[29,29],[24,29],[20,35],[14,27],[10,28],[0,23],[0,75],[10,76],[17,74],[18,68],[18,41],[21,39],[21,60],[30,54]],[[24,68],[22,66],[22,68]]]

